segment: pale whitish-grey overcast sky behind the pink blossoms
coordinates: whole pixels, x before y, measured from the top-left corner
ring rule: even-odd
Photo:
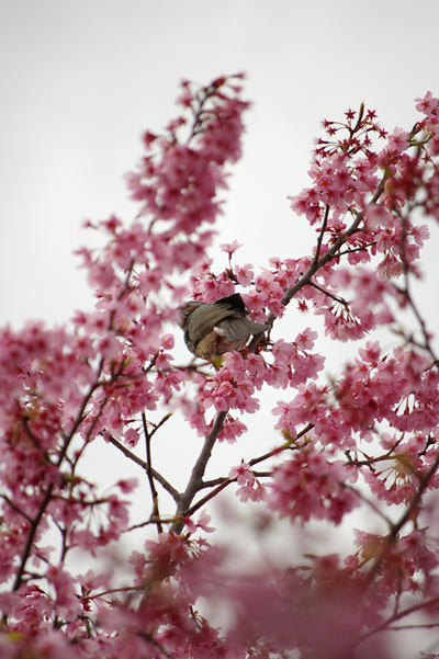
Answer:
[[[313,234],[285,197],[309,184],[319,121],[364,101],[384,127],[410,128],[414,98],[439,95],[438,33],[438,0],[2,0],[0,325],[91,308],[72,255],[91,241],[81,224],[136,214],[123,174],[142,133],[178,112],[182,78],[248,73],[254,107],[218,242],[245,243],[237,258],[255,265],[309,253]],[[438,325],[431,229],[423,310]],[[257,423],[272,446],[271,416]],[[221,451],[224,464],[260,453],[254,441],[236,458]]]

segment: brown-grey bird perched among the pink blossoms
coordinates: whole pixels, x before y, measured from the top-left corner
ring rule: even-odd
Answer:
[[[214,303],[188,302],[181,308],[180,327],[190,352],[212,360],[244,350],[251,334],[264,332],[270,326],[250,320],[241,296],[234,293]]]

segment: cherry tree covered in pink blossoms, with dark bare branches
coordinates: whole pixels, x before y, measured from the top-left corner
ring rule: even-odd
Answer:
[[[127,177],[136,219],[89,223],[104,243],[78,250],[94,310],[57,329],[1,330],[5,659],[384,658],[395,628],[439,626],[439,362],[413,292],[427,225],[439,220],[439,100],[417,99],[408,130],[387,133],[363,106],[325,120],[311,185],[291,197],[296,221],[315,230],[309,253],[256,266],[238,262],[232,241],[214,273],[221,190],[249,106],[241,78],[184,81],[181,114],[145,134]],[[268,331],[240,352],[177,360],[181,306],[236,293]],[[291,341],[277,322],[293,308],[303,327]],[[358,342],[331,382],[312,315],[327,345]],[[380,328],[397,328],[391,350]],[[239,442],[248,414],[271,411],[268,388],[279,398],[270,446],[206,480],[215,443]],[[153,440],[167,442],[172,414],[200,445],[182,491],[154,466]],[[132,461],[132,478],[104,493],[83,469],[97,442]],[[114,547],[135,531],[142,479],[144,537],[121,566]],[[345,553],[234,571],[221,537],[210,539],[211,501],[224,490],[250,515],[258,502],[267,520],[300,522],[305,536],[322,520],[363,529]],[[98,557],[95,569],[78,573],[75,553]]]

